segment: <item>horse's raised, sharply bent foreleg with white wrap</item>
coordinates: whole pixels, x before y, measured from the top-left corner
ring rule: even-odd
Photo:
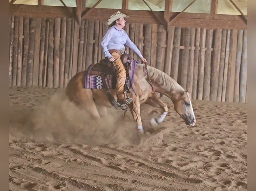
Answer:
[[[147,101],[145,102],[153,107],[160,107],[163,112],[158,118],[151,118],[150,119],[150,124],[152,126],[158,125],[159,123],[163,122],[164,118],[166,117],[168,113],[168,107],[167,105],[162,102],[157,95],[153,95],[152,97],[148,98]]]

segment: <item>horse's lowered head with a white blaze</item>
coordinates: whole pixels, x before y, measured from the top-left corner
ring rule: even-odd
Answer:
[[[194,126],[196,123],[196,117],[191,103],[191,97],[188,93],[188,89],[184,93],[176,96],[173,101],[175,111],[185,121],[186,125]]]

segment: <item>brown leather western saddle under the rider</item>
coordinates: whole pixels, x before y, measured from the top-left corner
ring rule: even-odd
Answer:
[[[130,56],[128,54],[123,54],[123,55],[121,55],[120,59],[121,59],[123,65],[124,65],[124,68],[125,68],[125,71],[126,71],[126,82],[127,82],[127,80],[130,81],[131,80],[130,76],[129,76],[130,63],[127,62],[127,60],[130,60]],[[111,75],[113,77],[116,77],[116,69],[115,69],[113,63],[110,62],[108,59],[102,59],[102,60],[100,60],[99,63],[95,64],[91,68],[91,71],[89,71],[89,74],[90,75],[101,76],[102,79],[105,79],[105,77],[107,75]],[[116,83],[116,82],[113,82],[113,83]],[[109,98],[110,102],[112,103],[112,105],[116,109],[118,109],[119,104],[117,103],[117,101],[115,100],[113,95],[111,95],[105,80],[102,80],[102,88],[105,90],[106,94],[108,95],[108,98]],[[125,87],[124,87],[124,94],[126,94],[126,93],[130,93],[129,88],[127,87],[127,83],[125,83]]]

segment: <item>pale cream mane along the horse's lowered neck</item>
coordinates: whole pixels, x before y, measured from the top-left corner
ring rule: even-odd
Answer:
[[[138,67],[141,69],[143,68],[143,64],[137,64]],[[148,75],[152,82],[156,82],[159,86],[161,86],[166,91],[171,90],[177,90],[180,92],[184,92],[185,90],[170,76],[162,72],[161,70],[158,70],[156,68],[153,68],[151,66],[147,66]]]

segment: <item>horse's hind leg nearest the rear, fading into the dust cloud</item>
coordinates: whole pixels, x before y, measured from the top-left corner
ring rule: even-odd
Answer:
[[[93,94],[90,89],[81,89],[79,92],[77,92],[74,102],[78,105],[79,108],[89,112],[92,118],[100,118],[100,114],[97,110],[97,107],[93,100]]]

